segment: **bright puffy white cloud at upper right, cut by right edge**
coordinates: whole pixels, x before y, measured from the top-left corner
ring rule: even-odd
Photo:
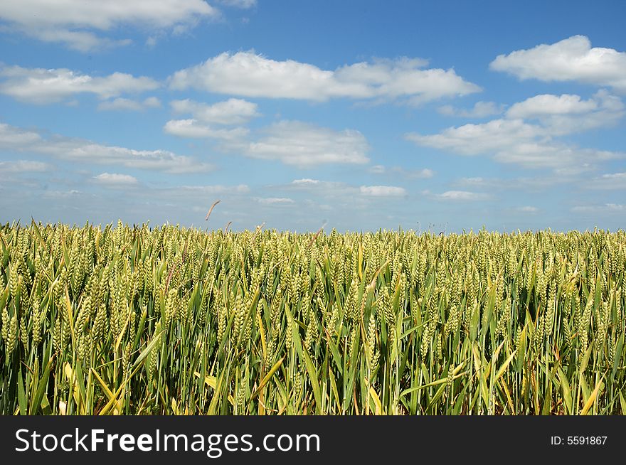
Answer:
[[[489,67],[520,79],[575,80],[626,92],[626,53],[613,48],[591,48],[585,36],[498,55]]]

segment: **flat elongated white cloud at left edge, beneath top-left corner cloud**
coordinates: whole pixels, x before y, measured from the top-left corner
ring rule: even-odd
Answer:
[[[92,77],[68,69],[21,68],[8,66],[0,70],[0,93],[24,102],[45,104],[60,102],[80,93],[92,93],[101,99],[122,93],[154,90],[159,83],[150,77],[113,73]]]

